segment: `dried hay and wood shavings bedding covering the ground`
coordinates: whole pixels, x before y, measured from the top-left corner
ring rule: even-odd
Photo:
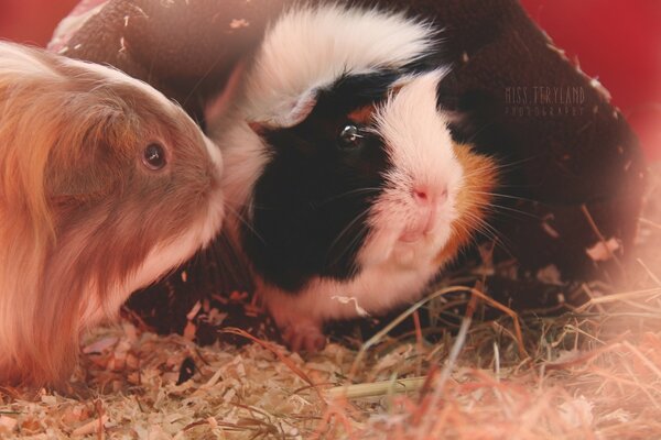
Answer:
[[[238,329],[226,331],[256,343],[197,346],[126,320],[97,329],[73,396],[0,392],[0,438],[659,438],[658,220],[641,220],[637,289],[582,286],[593,299],[560,317],[483,320],[480,308],[507,308],[479,284],[445,287],[401,316],[410,334],[389,336],[392,322],[359,351],[332,343],[305,361]],[[458,328],[421,327],[419,307],[462,302]]]

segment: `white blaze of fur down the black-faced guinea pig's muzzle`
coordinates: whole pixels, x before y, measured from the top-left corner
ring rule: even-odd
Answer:
[[[463,169],[447,121],[436,110],[436,88],[446,72],[410,79],[377,110],[375,130],[382,136],[393,167],[386,175],[386,189],[368,219],[372,233],[358,257],[364,267],[391,257],[404,265],[422,264],[451,237]],[[405,229],[415,228],[424,216],[412,197],[416,189],[424,189],[437,205],[435,224],[422,248],[399,241]]]

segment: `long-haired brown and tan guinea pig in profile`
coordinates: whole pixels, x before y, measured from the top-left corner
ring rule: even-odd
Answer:
[[[145,84],[0,43],[0,384],[63,384],[82,331],[218,232],[220,169]]]

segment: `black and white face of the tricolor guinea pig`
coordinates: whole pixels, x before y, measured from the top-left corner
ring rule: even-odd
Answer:
[[[295,292],[313,276],[349,279],[443,249],[464,172],[436,110],[441,77],[346,77],[296,125],[253,125],[271,157],[243,239],[267,280]]]

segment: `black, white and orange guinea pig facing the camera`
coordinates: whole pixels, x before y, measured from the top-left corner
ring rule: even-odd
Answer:
[[[293,350],[322,348],[323,323],[356,302],[418,299],[484,227],[497,166],[453,143],[437,42],[401,13],[291,9],[213,124],[228,233]]]

